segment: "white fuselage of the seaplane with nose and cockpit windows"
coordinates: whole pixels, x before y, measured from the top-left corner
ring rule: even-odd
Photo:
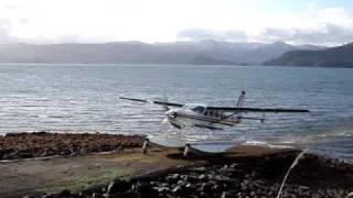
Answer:
[[[222,130],[224,127],[232,127],[240,122],[239,119],[229,117],[218,111],[208,110],[204,105],[185,105],[179,109],[171,109],[165,112],[168,121],[176,127],[199,127],[211,130]]]

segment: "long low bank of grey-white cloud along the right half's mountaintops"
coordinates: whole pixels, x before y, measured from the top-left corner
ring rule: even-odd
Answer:
[[[216,40],[227,42],[276,42],[296,44],[340,45],[353,41],[353,28],[323,22],[311,29],[264,28],[256,34],[232,30],[216,32],[207,29],[189,29],[178,33],[179,40],[202,41]]]

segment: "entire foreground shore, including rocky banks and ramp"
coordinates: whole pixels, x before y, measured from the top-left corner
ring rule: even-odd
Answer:
[[[301,152],[236,145],[221,153],[191,148],[185,157],[181,147],[152,143],[142,154],[145,138],[137,135],[9,134],[0,138],[1,148],[3,139],[12,143],[7,148],[15,145],[14,140],[21,146],[14,146],[19,155],[0,162],[0,197],[276,197]],[[78,146],[65,153],[71,144]],[[55,157],[19,158],[25,156],[19,151],[33,151],[35,157],[55,145]],[[289,174],[281,197],[344,198],[353,191],[352,184],[353,164],[306,153]]]

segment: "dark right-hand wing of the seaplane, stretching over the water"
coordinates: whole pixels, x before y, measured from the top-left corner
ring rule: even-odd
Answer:
[[[237,108],[237,107],[207,107],[208,110],[220,112],[274,112],[274,113],[296,113],[296,112],[310,112],[307,109],[282,109],[282,108]]]

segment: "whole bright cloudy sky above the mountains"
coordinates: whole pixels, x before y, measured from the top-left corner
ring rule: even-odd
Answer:
[[[0,43],[217,40],[341,45],[352,0],[0,0]]]

